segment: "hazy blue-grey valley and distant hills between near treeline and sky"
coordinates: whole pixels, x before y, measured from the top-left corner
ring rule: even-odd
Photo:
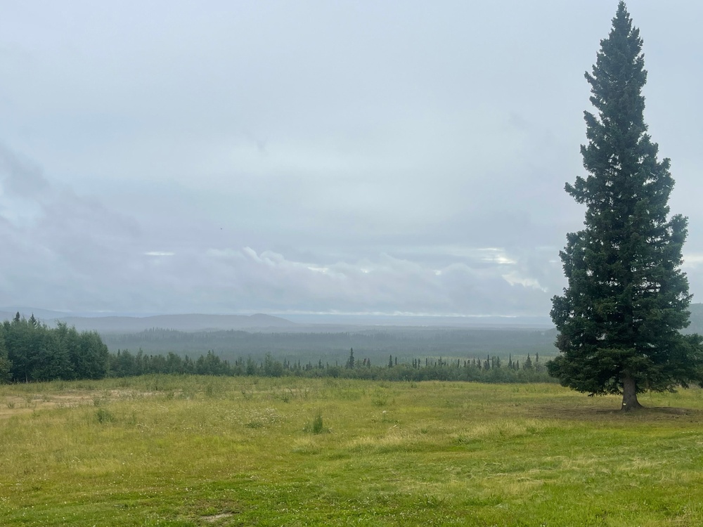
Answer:
[[[703,332],[703,304],[692,304],[690,311],[691,325],[685,332]],[[389,356],[399,363],[411,363],[428,357],[471,360],[495,356],[508,360],[511,356],[524,359],[536,354],[548,360],[557,354],[556,330],[534,319],[340,315],[299,317],[300,322],[296,323],[262,313],[66,317],[31,308],[22,308],[20,315],[29,317],[35,312],[49,327],[60,321],[79,331],[98,332],[110,353],[127,350],[195,358],[212,351],[232,363],[243,358],[261,360],[270,354],[276,360],[293,363],[322,361],[342,365],[350,349],[360,360],[368,358],[376,365],[387,363]],[[15,313],[13,308],[1,308],[0,319],[11,320]],[[308,320],[328,323],[304,323]],[[411,325],[414,320],[417,323]]]

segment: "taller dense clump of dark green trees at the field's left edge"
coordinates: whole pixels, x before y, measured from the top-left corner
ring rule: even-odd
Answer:
[[[20,313],[0,324],[0,382],[102,379],[108,356],[94,331],[79,333],[65,323],[50,328]]]

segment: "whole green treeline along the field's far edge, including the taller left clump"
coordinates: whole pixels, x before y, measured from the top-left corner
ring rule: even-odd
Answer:
[[[152,332],[160,334],[159,332]],[[259,334],[255,338],[259,337]],[[309,337],[309,335],[308,335]],[[383,340],[385,335],[373,338]],[[324,339],[323,339],[324,340]],[[350,349],[340,364],[304,363],[297,360],[277,360],[270,352],[259,360],[252,356],[233,361],[221,358],[210,350],[195,360],[173,351],[166,354],[146,354],[118,350],[110,353],[97,332],[78,332],[75,327],[58,323],[49,328],[34,315],[29,319],[15,316],[0,324],[0,382],[38,382],[53,379],[101,379],[103,377],[132,377],[148,374],[177,375],[252,375],[281,377],[344,377],[382,380],[455,380],[481,382],[546,382],[550,379],[539,354],[528,353],[522,365],[519,360],[502,360],[500,356],[485,358],[417,357],[399,360],[390,353],[377,363],[370,357],[354,357]],[[372,364],[373,362],[373,364]]]

